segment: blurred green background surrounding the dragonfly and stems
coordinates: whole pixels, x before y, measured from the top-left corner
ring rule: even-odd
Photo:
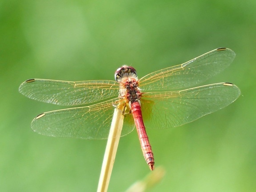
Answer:
[[[106,140],[53,138],[32,119],[64,107],[18,92],[30,78],[113,80],[123,64],[140,77],[219,47],[236,59],[205,84],[232,82],[236,102],[179,128],[148,130],[152,192],[251,192],[256,188],[256,1],[2,0],[0,191],[96,191]],[[120,139],[109,192],[149,173],[138,136]]]

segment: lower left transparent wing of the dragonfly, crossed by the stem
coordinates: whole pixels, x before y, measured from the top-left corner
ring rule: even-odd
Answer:
[[[116,99],[99,104],[45,112],[37,116],[31,128],[42,135],[81,139],[107,139]],[[121,136],[134,129],[130,114],[125,115]]]

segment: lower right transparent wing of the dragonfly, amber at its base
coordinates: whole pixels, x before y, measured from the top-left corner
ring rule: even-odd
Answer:
[[[145,93],[141,108],[146,128],[171,128],[224,108],[239,96],[236,85],[209,84],[182,91]]]

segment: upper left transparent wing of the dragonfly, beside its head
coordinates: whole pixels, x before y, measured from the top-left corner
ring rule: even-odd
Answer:
[[[60,81],[32,79],[19,87],[30,99],[64,106],[81,105],[116,98],[119,84],[112,80]]]

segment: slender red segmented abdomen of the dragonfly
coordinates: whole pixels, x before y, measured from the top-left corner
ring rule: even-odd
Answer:
[[[152,152],[151,145],[148,140],[148,135],[145,129],[145,125],[142,118],[140,104],[138,102],[134,102],[131,104],[132,116],[136,125],[136,129],[140,139],[141,149],[144,155],[145,160],[151,170],[154,170],[154,156]]]

